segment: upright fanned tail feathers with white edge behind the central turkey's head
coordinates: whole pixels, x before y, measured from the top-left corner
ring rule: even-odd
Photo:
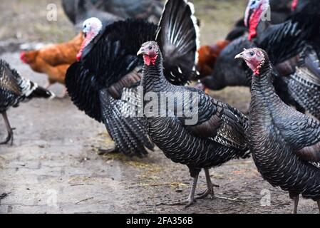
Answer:
[[[167,1],[156,41],[164,58],[165,76],[174,85],[197,78],[198,33],[193,4],[186,0]]]

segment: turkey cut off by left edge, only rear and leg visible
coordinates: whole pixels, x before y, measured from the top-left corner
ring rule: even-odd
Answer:
[[[32,81],[22,78],[17,71],[10,68],[6,61],[0,59],[0,113],[8,131],[8,137],[0,145],[14,143],[14,132],[6,111],[11,107],[18,107],[19,103],[27,102],[32,98],[54,98],[54,94],[37,86]]]

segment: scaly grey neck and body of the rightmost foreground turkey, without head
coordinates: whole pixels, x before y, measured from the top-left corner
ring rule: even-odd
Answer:
[[[262,88],[263,91],[262,91]],[[285,105],[275,93],[270,78],[254,77],[249,118],[249,148],[257,169],[273,186],[320,199],[320,170],[311,162],[301,160],[293,151],[292,141],[308,140],[303,133],[307,125],[318,125]],[[291,131],[292,130],[292,131]],[[319,135],[320,128],[313,135]],[[291,140],[288,142],[288,140]],[[310,138],[311,140],[311,138]]]

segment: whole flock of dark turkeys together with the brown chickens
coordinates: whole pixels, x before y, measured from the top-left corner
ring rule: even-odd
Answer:
[[[225,40],[207,46],[192,3],[135,1],[63,0],[78,36],[21,53],[46,86],[0,60],[1,146],[14,143],[7,110],[51,99],[48,87],[61,83],[115,142],[101,153],[145,157],[158,147],[188,167],[190,195],[177,204],[214,197],[210,168],[252,157],[264,180],[289,192],[293,213],[300,195],[320,212],[320,1],[249,0]],[[227,86],[250,88],[247,113],[207,93]],[[207,190],[196,195],[202,169]]]

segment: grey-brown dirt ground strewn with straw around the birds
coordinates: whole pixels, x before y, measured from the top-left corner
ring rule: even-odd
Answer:
[[[4,2],[0,9],[6,6],[9,10],[1,9],[5,14],[0,18],[10,27],[0,28],[0,58],[24,77],[44,85],[46,76],[33,73],[19,61],[19,44],[65,41],[75,31],[59,5],[58,21],[48,23],[43,19],[46,4],[57,0]],[[245,4],[236,0],[194,2],[202,21],[202,43],[223,38],[242,15]],[[27,26],[23,24],[26,19],[30,19]],[[62,86],[52,89],[60,93]],[[228,88],[212,95],[247,109],[247,88]],[[78,111],[69,98],[32,100],[8,114],[16,130],[14,145],[0,147],[0,213],[291,212],[287,192],[262,180],[251,159],[234,160],[212,169],[211,177],[220,185],[217,197],[198,200],[184,209],[165,203],[187,197],[191,179],[185,166],[171,162],[160,150],[145,159],[99,156],[97,148],[112,147],[113,142],[104,126]],[[0,129],[0,138],[4,139],[2,120]],[[200,190],[205,190],[203,174],[197,188]],[[266,205],[264,199],[270,202],[267,200]],[[299,212],[316,213],[316,203],[301,199]]]

